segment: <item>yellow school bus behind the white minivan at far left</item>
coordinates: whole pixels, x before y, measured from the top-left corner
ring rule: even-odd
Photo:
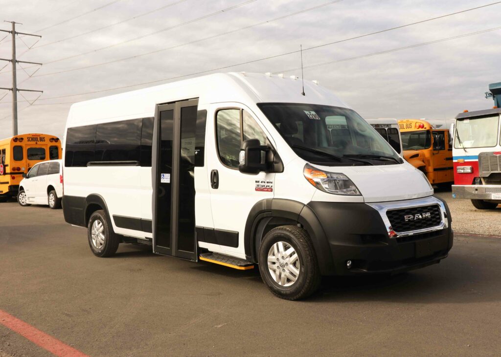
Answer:
[[[61,140],[48,134],[0,139],[0,201],[17,196],[23,174],[40,161],[61,158]]]

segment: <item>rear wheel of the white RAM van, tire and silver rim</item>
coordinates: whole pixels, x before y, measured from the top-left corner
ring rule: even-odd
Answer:
[[[111,256],[118,249],[120,238],[106,218],[104,210],[92,213],[87,224],[87,238],[94,255],[99,257]]]

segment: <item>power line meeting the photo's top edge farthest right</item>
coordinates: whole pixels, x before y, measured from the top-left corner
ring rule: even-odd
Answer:
[[[260,26],[260,25],[263,25],[263,24],[267,24],[267,23],[270,23],[270,22],[273,22],[273,21],[281,20],[281,19],[284,19],[284,18],[287,18],[287,17],[291,17],[291,16],[298,15],[298,14],[301,14],[301,13],[304,13],[304,12],[307,12],[307,11],[315,10],[315,9],[318,9],[318,8],[321,8],[321,7],[324,7],[324,6],[327,6],[327,5],[331,5],[331,4],[334,4],[336,2],[341,2],[341,1],[343,1],[343,0],[329,1],[329,2],[326,2],[326,3],[320,4],[320,5],[314,6],[314,7],[305,8],[305,9],[300,10],[300,11],[296,11],[296,12],[292,12],[292,13],[289,13],[289,14],[285,14],[285,15],[282,15],[282,16],[279,16],[279,17],[275,17],[275,18],[266,20],[266,21],[254,23],[252,25],[248,25],[248,26],[236,28],[236,29],[233,29],[233,30],[230,30],[230,31],[218,33],[218,34],[215,34],[215,35],[212,35],[212,36],[208,36],[208,37],[196,39],[196,40],[189,41],[189,42],[185,42],[185,43],[181,43],[181,44],[176,44],[176,45],[173,45],[173,46],[170,46],[170,47],[156,49],[154,51],[150,51],[150,52],[146,52],[146,53],[136,54],[136,55],[129,56],[129,57],[114,59],[114,60],[111,60],[111,61],[101,62],[101,63],[96,63],[96,64],[90,64],[90,65],[86,65],[86,66],[82,66],[82,67],[77,67],[77,68],[70,68],[70,69],[65,69],[65,70],[60,70],[60,71],[50,72],[50,73],[43,73],[43,74],[36,75],[35,77],[41,77],[41,76],[52,75],[52,74],[59,74],[59,73],[66,73],[66,72],[71,72],[71,71],[74,71],[74,70],[80,70],[80,69],[97,67],[97,66],[100,66],[100,65],[105,65],[105,64],[120,62],[120,61],[123,61],[123,60],[128,60],[128,59],[138,58],[138,57],[142,57],[142,56],[149,55],[149,54],[158,53],[158,52],[165,51],[165,50],[168,50],[168,49],[179,48],[179,47],[182,47],[182,46],[185,46],[185,45],[188,45],[188,44],[202,42],[202,41],[205,41],[205,40],[208,40],[208,39],[213,39],[213,38],[216,38],[216,37],[220,37],[220,36],[223,36],[223,35],[226,35],[226,34],[229,34],[229,33],[234,33],[234,32],[237,32],[237,31],[244,30],[244,29],[249,29],[249,28]]]

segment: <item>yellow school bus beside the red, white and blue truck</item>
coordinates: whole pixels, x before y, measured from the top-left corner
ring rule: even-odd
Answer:
[[[454,181],[449,130],[423,119],[398,120],[404,158],[432,184]]]

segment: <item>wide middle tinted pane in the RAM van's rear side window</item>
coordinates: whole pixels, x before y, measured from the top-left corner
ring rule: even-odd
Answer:
[[[94,161],[139,161],[142,119],[97,125]]]

